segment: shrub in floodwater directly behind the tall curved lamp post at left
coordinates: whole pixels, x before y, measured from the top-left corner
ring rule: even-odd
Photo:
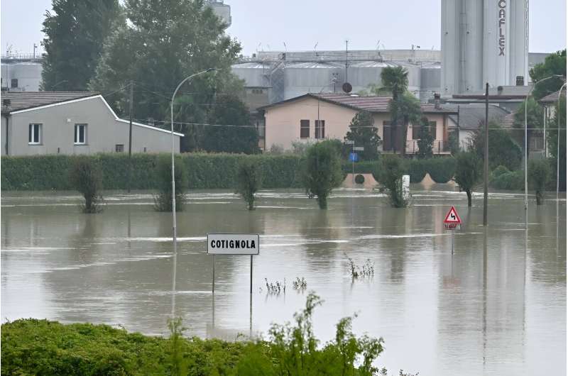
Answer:
[[[182,211],[187,189],[187,173],[181,158],[175,157],[175,211]],[[160,155],[158,159],[158,194],[154,197],[156,211],[172,211],[172,160],[168,155]]]

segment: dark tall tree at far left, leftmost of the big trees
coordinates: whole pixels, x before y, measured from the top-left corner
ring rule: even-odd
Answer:
[[[86,91],[104,41],[121,19],[119,0],[53,0],[52,6],[42,28],[41,88]]]

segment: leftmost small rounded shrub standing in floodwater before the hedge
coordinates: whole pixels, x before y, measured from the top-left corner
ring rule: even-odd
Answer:
[[[79,157],[70,170],[70,184],[84,197],[82,211],[97,213],[101,211],[102,173],[97,162],[89,157]]]

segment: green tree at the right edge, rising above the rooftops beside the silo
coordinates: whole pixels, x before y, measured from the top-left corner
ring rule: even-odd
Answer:
[[[566,49],[551,53],[545,58],[545,62],[538,63],[530,70],[532,82],[559,74],[566,77]],[[545,82],[535,85],[532,95],[538,100],[550,93],[557,92],[564,81],[561,78],[547,79]]]

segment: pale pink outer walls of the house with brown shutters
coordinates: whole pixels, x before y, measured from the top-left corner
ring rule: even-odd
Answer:
[[[325,138],[343,140],[351,119],[357,111],[337,104],[319,101],[320,120],[325,121]],[[292,149],[294,141],[313,143],[315,139],[315,121],[317,120],[318,101],[304,98],[266,109],[266,150],[272,145],[281,145],[285,150]],[[444,115],[427,114],[430,121],[436,121],[436,140],[447,140],[447,127],[444,127]],[[374,113],[373,119],[378,128],[378,136],[383,140],[383,122],[391,120],[391,114]],[[310,138],[300,138],[300,120],[310,121]],[[413,150],[412,124],[408,126],[407,152]],[[415,145],[414,145],[415,146]],[[416,148],[416,147],[415,147]],[[437,152],[437,150],[435,150]]]

